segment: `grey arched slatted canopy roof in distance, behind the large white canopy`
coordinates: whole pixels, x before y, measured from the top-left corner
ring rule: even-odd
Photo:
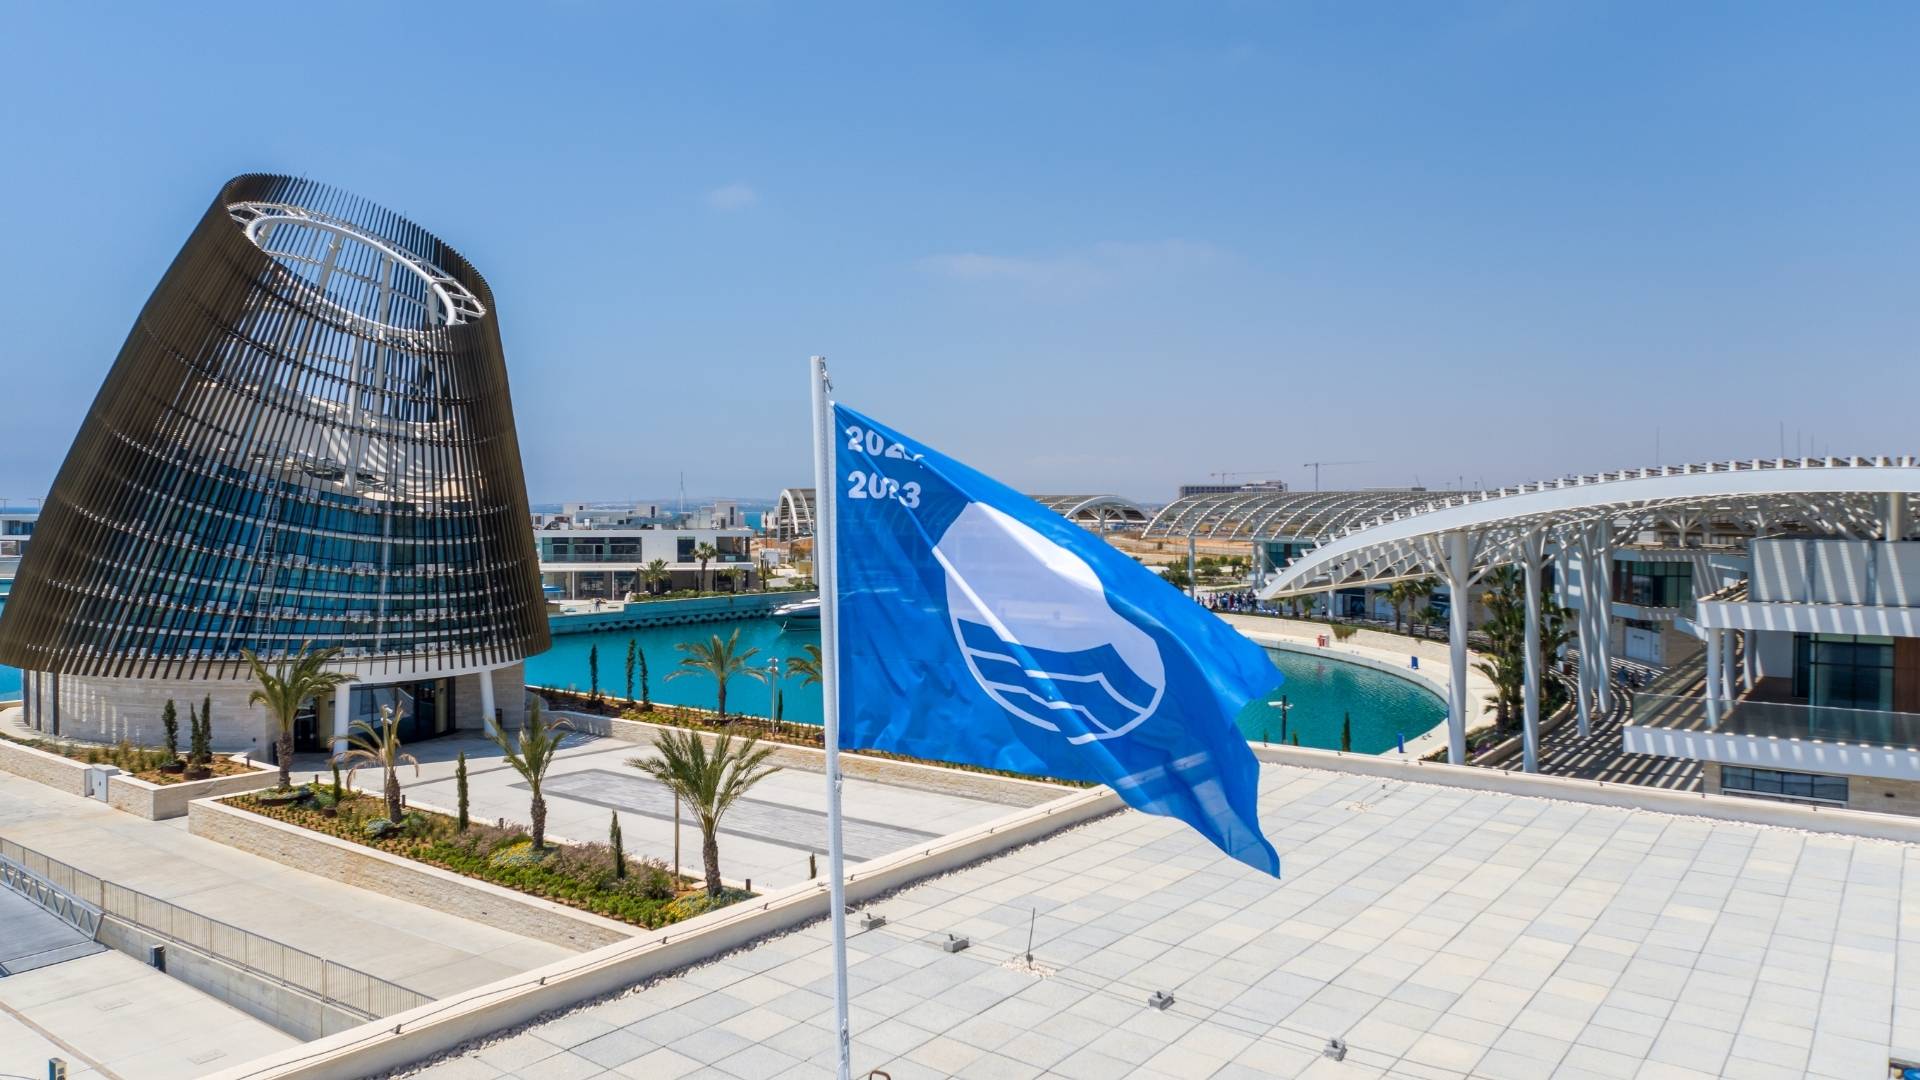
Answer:
[[[1146,540],[1319,540],[1434,500],[1423,490],[1219,492],[1167,503]]]

